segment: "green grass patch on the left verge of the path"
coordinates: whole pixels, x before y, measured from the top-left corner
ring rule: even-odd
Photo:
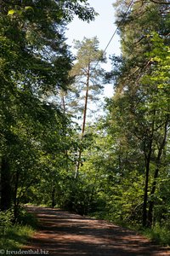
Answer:
[[[6,213],[6,214],[5,214]],[[26,245],[37,229],[37,219],[25,208],[20,210],[16,224],[12,224],[8,212],[0,212],[0,251],[17,250]]]

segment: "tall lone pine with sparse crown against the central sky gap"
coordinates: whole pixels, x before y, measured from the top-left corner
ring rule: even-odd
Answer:
[[[75,41],[75,49],[77,49],[77,56],[70,73],[74,82],[71,84],[71,91],[63,99],[64,102],[65,99],[70,101],[70,107],[68,107],[70,112],[76,113],[79,121],[82,122],[81,144],[83,144],[87,117],[89,112],[93,111],[90,108],[93,108],[94,102],[99,102],[103,89],[104,70],[100,67],[100,63],[105,62],[105,55],[99,49],[99,40],[96,37],[83,38],[82,42]],[[83,146],[80,145],[77,152],[75,177],[81,164],[82,148]]]

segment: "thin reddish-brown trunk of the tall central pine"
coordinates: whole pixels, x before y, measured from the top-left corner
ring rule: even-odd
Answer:
[[[85,127],[86,127],[86,117],[87,117],[87,109],[88,109],[88,90],[89,90],[89,79],[90,79],[90,64],[88,64],[88,73],[87,73],[87,83],[86,83],[86,96],[85,96],[85,103],[84,103],[84,111],[83,111],[83,120],[82,120],[82,137],[84,136]],[[78,158],[77,158],[77,166],[75,172],[75,178],[78,176],[79,167],[81,164],[81,157],[82,157],[82,149],[79,149]]]

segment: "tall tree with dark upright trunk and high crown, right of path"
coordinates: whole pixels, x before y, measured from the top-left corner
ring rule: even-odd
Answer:
[[[113,58],[118,68],[113,72],[116,95],[109,104],[111,119],[120,126],[127,147],[141,155],[145,169],[144,226],[153,224],[154,205],[159,201],[155,195],[158,175],[166,169],[170,119],[164,89],[169,83],[169,18],[167,5],[134,3],[120,27],[122,59]]]

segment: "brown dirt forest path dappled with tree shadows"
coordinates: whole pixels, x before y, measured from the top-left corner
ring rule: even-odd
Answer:
[[[161,256],[170,249],[153,245],[135,231],[60,209],[27,207],[39,220],[39,230],[31,238],[25,255]]]

